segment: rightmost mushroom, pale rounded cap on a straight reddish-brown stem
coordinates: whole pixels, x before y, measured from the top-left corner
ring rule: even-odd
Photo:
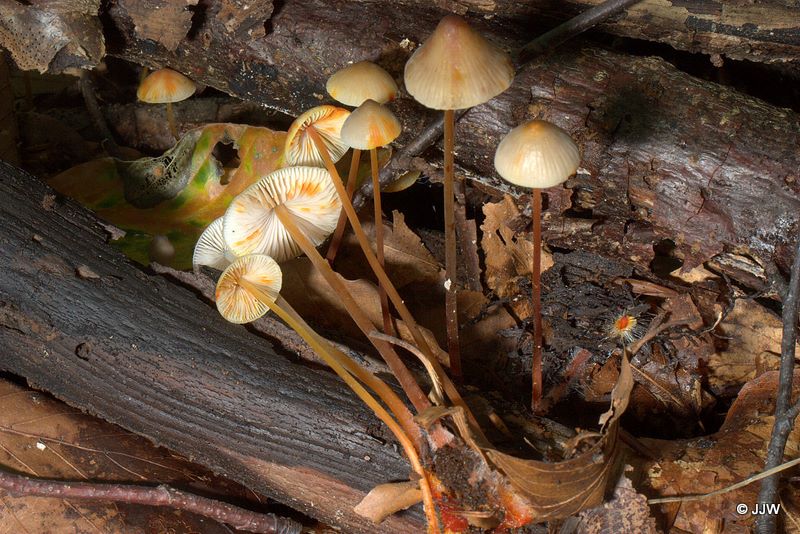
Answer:
[[[532,189],[533,217],[533,378],[531,409],[542,399],[542,189],[564,183],[580,164],[580,151],[567,132],[547,121],[517,126],[500,141],[494,166],[507,182]]]

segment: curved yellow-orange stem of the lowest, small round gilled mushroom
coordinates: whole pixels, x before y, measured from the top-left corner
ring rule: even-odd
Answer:
[[[321,256],[320,259],[322,259]],[[428,480],[425,468],[422,466],[422,461],[420,460],[417,449],[415,448],[414,443],[406,431],[400,427],[394,418],[392,418],[391,414],[386,411],[386,408],[381,406],[375,397],[370,395],[370,393],[364,389],[364,386],[362,386],[358,380],[356,380],[353,375],[350,374],[340,358],[335,355],[336,350],[333,349],[328,342],[322,339],[322,337],[317,335],[316,332],[314,332],[305,321],[302,319],[298,321],[297,319],[299,318],[299,315],[296,315],[296,313],[289,313],[286,309],[284,309],[284,306],[288,306],[288,303],[285,300],[283,300],[281,297],[278,297],[278,299],[273,302],[268,295],[265,295],[254,285],[249,284],[245,280],[240,281],[240,283],[243,287],[245,287],[245,289],[256,295],[258,300],[264,303],[271,311],[280,317],[287,325],[289,325],[292,330],[300,334],[300,336],[305,340],[306,343],[309,344],[314,352],[319,354],[319,356],[325,360],[331,369],[333,369],[336,374],[339,375],[339,377],[347,384],[347,386],[353,390],[358,398],[361,399],[364,404],[369,406],[375,415],[378,416],[378,418],[383,421],[387,427],[389,427],[389,430],[391,430],[392,434],[395,435],[397,441],[399,441],[400,445],[403,447],[403,451],[405,451],[406,456],[411,463],[411,467],[414,469],[414,472],[420,477],[419,485],[420,490],[422,491],[422,499],[425,503],[425,515],[428,520],[428,526],[430,529],[433,529],[433,532],[440,532],[430,481]],[[343,354],[341,356],[344,357],[344,359],[349,360],[349,358]],[[364,371],[366,372],[366,370]],[[373,378],[375,377],[373,376]],[[397,400],[399,401],[399,399]],[[402,403],[400,404],[402,405]]]

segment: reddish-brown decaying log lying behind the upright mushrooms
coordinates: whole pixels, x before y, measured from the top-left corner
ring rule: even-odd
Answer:
[[[349,61],[378,61],[401,80],[410,53],[442,15],[412,0],[287,0],[269,19],[266,35],[251,39],[226,29],[222,3],[209,6],[170,53],[137,37],[122,1],[108,12],[115,25],[111,53],[149,66],[169,64],[291,114],[329,102],[325,80]],[[483,5],[452,2],[468,4]],[[758,4],[768,5],[777,3]],[[503,20],[473,22],[508,48],[535,31],[526,28],[523,35]],[[407,95],[394,106],[405,128],[399,145],[434,116]],[[457,163],[474,185],[492,194],[522,193],[496,178],[492,156],[501,136],[531,117],[565,127],[584,154],[583,170],[568,189],[549,195],[545,228],[551,244],[623,256],[646,270],[654,244],[664,239],[675,242],[687,268],[723,252],[788,265],[785,237],[800,216],[796,113],[698,80],[658,58],[576,41],[525,66],[510,90],[460,121]],[[740,281],[749,285],[749,278]]]

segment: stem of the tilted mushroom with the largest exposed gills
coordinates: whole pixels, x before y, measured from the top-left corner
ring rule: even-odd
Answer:
[[[289,235],[291,235],[292,238],[297,242],[297,245],[300,247],[303,253],[308,256],[314,267],[319,271],[323,278],[325,278],[325,281],[342,299],[342,303],[344,304],[345,309],[347,309],[347,313],[349,313],[356,322],[358,328],[364,333],[365,336],[369,337],[369,333],[374,329],[369,317],[367,317],[367,314],[364,313],[364,310],[362,310],[361,307],[356,303],[355,299],[353,299],[353,296],[347,290],[347,287],[344,285],[344,282],[342,282],[342,279],[339,278],[335,272],[333,272],[331,266],[317,251],[314,244],[308,240],[308,238],[292,220],[292,216],[286,209],[286,206],[282,204],[276,205],[275,215],[286,228],[286,231],[289,232]],[[416,380],[414,380],[411,372],[405,366],[403,361],[400,359],[400,356],[397,355],[391,345],[385,341],[378,340],[375,340],[373,345],[375,345],[375,348],[378,349],[378,352],[380,352],[384,361],[386,361],[386,364],[392,370],[392,373],[394,373],[395,377],[397,377],[398,382],[400,382],[400,386],[403,388],[403,391],[405,391],[406,395],[408,395],[409,400],[417,409],[417,411],[421,412],[430,407],[430,401],[428,401],[428,398],[422,392],[422,389],[420,389],[419,384],[417,384]]]

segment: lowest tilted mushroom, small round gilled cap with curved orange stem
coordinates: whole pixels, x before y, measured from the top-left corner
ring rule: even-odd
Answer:
[[[234,261],[217,282],[216,299],[220,314],[234,323],[253,321],[272,311],[290,328],[300,334],[306,343],[336,372],[348,387],[375,413],[395,435],[412,468],[420,477],[425,513],[429,528],[439,532],[433,493],[427,472],[419,457],[419,427],[409,419],[410,413],[391,390],[366,369],[361,368],[327,340],[319,336],[300,318],[289,304],[280,297],[282,273],[278,264],[267,255],[251,254]],[[373,397],[356,378],[379,394],[396,415],[405,419],[408,429],[394,420],[392,415]],[[398,413],[399,412],[399,413]],[[412,440],[409,431],[415,436]],[[415,443],[416,441],[416,443]]]

